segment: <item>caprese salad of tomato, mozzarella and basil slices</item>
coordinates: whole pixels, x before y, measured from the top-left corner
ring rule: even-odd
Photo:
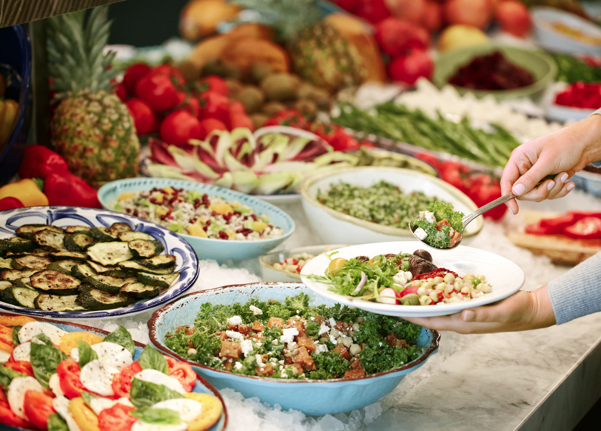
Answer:
[[[107,336],[0,316],[0,423],[47,431],[204,431],[218,397],[192,390],[187,363],[149,345],[133,360],[123,326]]]

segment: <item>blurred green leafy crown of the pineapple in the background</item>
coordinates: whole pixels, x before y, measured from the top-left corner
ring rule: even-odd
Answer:
[[[279,39],[291,41],[307,26],[319,22],[323,11],[316,0],[230,0],[231,4],[255,11],[258,22],[275,29]]]

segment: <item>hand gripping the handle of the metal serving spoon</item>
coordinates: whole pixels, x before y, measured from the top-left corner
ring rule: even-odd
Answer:
[[[601,160],[601,115],[592,115],[514,149],[503,170],[501,193],[513,191],[517,199],[536,202],[566,196],[575,187],[567,179],[596,160]],[[557,175],[535,187],[551,174]],[[517,214],[515,199],[507,206]]]

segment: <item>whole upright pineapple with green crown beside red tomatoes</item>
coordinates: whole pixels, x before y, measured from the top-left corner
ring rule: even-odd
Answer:
[[[139,141],[127,106],[113,94],[109,68],[115,56],[103,55],[111,22],[108,6],[50,18],[48,63],[51,87],[62,99],[50,131],[52,145],[69,170],[92,187],[138,175]]]

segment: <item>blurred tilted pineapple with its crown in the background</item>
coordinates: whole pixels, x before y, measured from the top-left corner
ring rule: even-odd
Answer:
[[[330,92],[359,85],[367,69],[353,44],[322,20],[315,0],[233,0],[260,14],[288,46],[295,73]]]

